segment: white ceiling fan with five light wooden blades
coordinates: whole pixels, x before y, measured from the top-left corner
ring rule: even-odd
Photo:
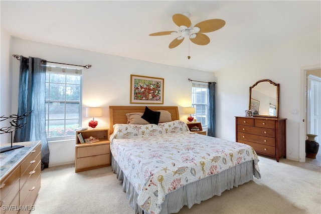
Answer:
[[[191,42],[196,45],[207,45],[210,43],[210,38],[203,33],[217,31],[223,28],[223,26],[225,25],[224,20],[211,19],[205,20],[193,26],[189,17],[190,13],[175,14],[173,16],[173,22],[180,27],[178,31],[157,32],[149,34],[149,36],[179,34],[180,36],[170,43],[169,48],[177,47],[184,41],[185,38],[189,38]]]

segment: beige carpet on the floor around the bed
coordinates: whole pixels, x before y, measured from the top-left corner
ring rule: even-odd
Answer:
[[[321,213],[321,167],[260,156],[261,179],[226,190],[179,213]],[[36,213],[134,213],[111,167],[42,171]]]

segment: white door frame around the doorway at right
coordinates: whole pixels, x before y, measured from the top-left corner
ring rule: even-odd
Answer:
[[[302,67],[300,70],[301,76],[301,90],[300,90],[300,103],[301,103],[301,111],[300,111],[300,125],[299,125],[299,162],[305,162],[305,139],[306,139],[306,117],[307,117],[307,85],[306,85],[306,71],[320,69],[321,65],[311,65]]]

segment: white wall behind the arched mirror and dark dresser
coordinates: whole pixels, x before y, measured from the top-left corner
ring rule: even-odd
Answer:
[[[301,111],[301,68],[321,65],[320,31],[272,47],[255,56],[216,72],[218,137],[235,140],[235,116],[243,116],[249,105],[249,87],[261,79],[280,84],[279,117],[286,120],[286,156],[299,161],[299,125],[304,118],[291,114]],[[301,142],[304,143],[304,142]]]

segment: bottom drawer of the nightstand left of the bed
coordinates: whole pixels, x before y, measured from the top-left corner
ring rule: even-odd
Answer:
[[[108,144],[109,145],[109,144]],[[76,168],[87,168],[99,165],[110,164],[110,154],[95,155],[90,157],[77,158]]]

